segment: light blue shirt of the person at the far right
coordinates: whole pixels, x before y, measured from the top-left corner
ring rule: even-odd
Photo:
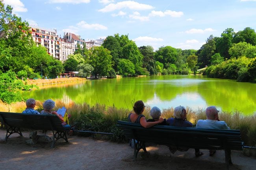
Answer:
[[[215,120],[198,120],[196,128],[206,128],[206,129],[226,129],[230,130],[230,127],[224,121],[215,121]]]

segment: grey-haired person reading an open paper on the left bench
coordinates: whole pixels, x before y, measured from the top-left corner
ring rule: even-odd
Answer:
[[[55,107],[55,102],[52,101],[51,99],[46,100],[43,103],[43,108],[44,110],[42,110],[41,115],[57,115],[59,117],[59,119],[61,120],[61,124],[67,125],[67,123],[64,121],[63,117],[61,115],[59,115],[57,112],[52,111],[52,109]]]

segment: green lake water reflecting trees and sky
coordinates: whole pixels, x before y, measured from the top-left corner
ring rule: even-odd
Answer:
[[[48,87],[22,94],[39,101],[60,99],[64,102],[100,103],[129,109],[132,109],[134,101],[142,100],[148,106],[161,109],[182,105],[197,110],[214,105],[228,112],[239,110],[245,115],[256,113],[256,84],[203,76],[127,77]]]

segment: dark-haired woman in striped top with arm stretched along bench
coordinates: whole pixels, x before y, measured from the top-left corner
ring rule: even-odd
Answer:
[[[133,108],[135,113],[130,113],[128,115],[128,122],[140,123],[141,126],[143,126],[144,128],[150,128],[151,126],[154,126],[164,121],[163,118],[160,118],[158,121],[155,122],[147,122],[145,116],[142,114],[145,109],[143,101],[135,102]]]

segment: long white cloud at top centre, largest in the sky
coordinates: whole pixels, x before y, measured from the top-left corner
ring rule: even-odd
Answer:
[[[123,8],[128,8],[131,10],[147,10],[147,9],[153,9],[154,7],[147,4],[140,4],[134,1],[123,1],[123,2],[117,2],[116,4],[111,3],[106,7],[99,9],[98,11],[105,13],[105,12],[120,10]]]

